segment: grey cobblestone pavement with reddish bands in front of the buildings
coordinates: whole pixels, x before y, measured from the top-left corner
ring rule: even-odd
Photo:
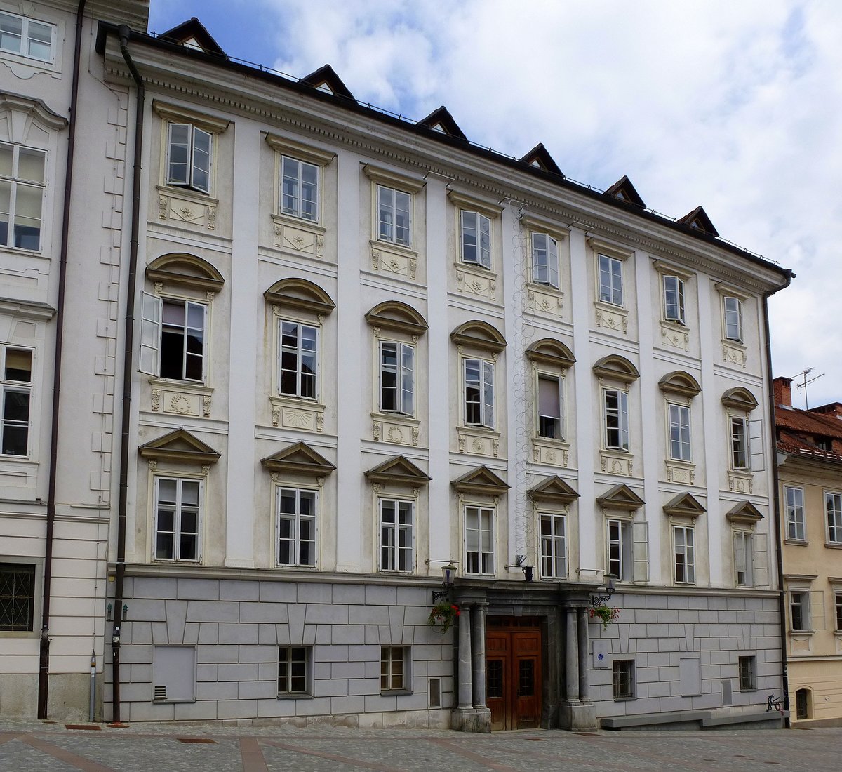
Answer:
[[[68,728],[84,727],[84,728]],[[842,769],[842,728],[730,732],[529,730],[468,735],[219,724],[0,722],[0,770],[546,772]]]

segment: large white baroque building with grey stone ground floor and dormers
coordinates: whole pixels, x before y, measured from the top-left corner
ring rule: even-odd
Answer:
[[[101,715],[760,722],[783,688],[765,298],[791,273],[627,178],[472,146],[443,108],[414,124],[329,67],[112,16],[85,44],[103,174],[68,270],[70,370],[111,388],[68,415],[114,457],[110,527],[74,525],[74,559],[100,550]]]

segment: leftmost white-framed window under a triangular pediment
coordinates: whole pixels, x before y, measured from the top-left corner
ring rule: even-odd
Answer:
[[[156,560],[200,560],[202,489],[201,480],[155,478]]]

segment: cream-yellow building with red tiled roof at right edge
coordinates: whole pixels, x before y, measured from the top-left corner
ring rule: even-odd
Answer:
[[[842,404],[792,407],[775,378],[786,661],[795,721],[842,719]]]

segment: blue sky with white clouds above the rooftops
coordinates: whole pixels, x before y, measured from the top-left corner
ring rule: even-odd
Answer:
[[[627,174],[671,217],[704,206],[798,274],[770,301],[775,375],[812,367],[810,406],[842,402],[838,0],[152,0],[149,29],[191,16],[229,56],[295,77],[328,62],[361,101],[415,120],[445,104],[499,152],[542,141],[579,182]]]

